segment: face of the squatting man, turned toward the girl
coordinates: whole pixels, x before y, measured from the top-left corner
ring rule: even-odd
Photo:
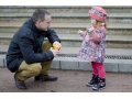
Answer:
[[[38,20],[36,22],[36,28],[42,31],[47,31],[52,23],[52,16],[51,15],[45,15],[44,21]]]

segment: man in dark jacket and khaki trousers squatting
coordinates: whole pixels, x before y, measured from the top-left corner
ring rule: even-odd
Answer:
[[[52,48],[52,45],[62,45],[55,31],[50,29],[52,15],[37,9],[10,43],[7,66],[15,73],[14,80],[19,89],[26,89],[24,81],[33,76],[37,81],[57,80],[57,77],[48,75],[48,69],[54,56],[59,53],[59,50]],[[45,37],[48,42],[45,42]]]

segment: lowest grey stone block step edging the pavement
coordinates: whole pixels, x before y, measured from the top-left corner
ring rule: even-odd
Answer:
[[[6,68],[6,55],[0,55],[0,67]],[[132,73],[131,59],[106,59],[106,72],[111,73]],[[80,61],[76,57],[55,57],[51,69],[63,70],[91,70],[90,63]]]

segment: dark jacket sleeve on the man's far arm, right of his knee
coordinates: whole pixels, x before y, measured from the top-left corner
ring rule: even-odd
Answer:
[[[59,37],[57,36],[56,32],[52,29],[48,29],[46,33],[46,37],[50,40],[50,42],[53,44],[55,41],[58,41],[61,43]]]

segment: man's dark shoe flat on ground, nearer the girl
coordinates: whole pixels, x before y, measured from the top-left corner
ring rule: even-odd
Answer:
[[[40,75],[35,76],[35,81],[56,81],[57,77],[50,76],[50,75]]]

